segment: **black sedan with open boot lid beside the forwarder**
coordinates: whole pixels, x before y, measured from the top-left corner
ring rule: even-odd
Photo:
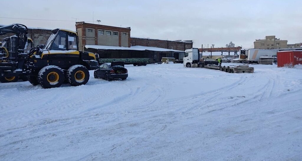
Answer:
[[[103,78],[106,81],[110,81],[112,79],[125,80],[128,77],[128,70],[124,66],[124,62],[111,62],[102,64],[98,69],[95,69],[94,77]]]

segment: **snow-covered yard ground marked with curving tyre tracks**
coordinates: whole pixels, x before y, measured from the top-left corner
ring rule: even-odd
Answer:
[[[223,65],[229,65],[223,63]],[[302,69],[126,66],[126,81],[0,84],[0,160],[301,160]]]

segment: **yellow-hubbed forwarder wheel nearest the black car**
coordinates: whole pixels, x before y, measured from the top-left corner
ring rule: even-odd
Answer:
[[[89,71],[83,65],[72,65],[66,72],[68,82],[72,86],[86,84],[89,80]]]

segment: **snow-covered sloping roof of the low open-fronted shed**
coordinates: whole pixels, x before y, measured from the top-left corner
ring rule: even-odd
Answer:
[[[131,46],[131,47],[120,47],[120,46],[103,46],[103,45],[85,45],[85,48],[91,49],[103,49],[103,50],[139,50],[139,51],[158,51],[158,52],[184,52],[181,50],[172,50],[158,47],[149,47],[149,46]]]

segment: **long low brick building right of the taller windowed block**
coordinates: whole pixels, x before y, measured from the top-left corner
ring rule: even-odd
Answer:
[[[186,49],[193,48],[193,41],[192,40],[170,41],[170,40],[131,37],[131,46],[137,46],[137,45],[185,51]]]

